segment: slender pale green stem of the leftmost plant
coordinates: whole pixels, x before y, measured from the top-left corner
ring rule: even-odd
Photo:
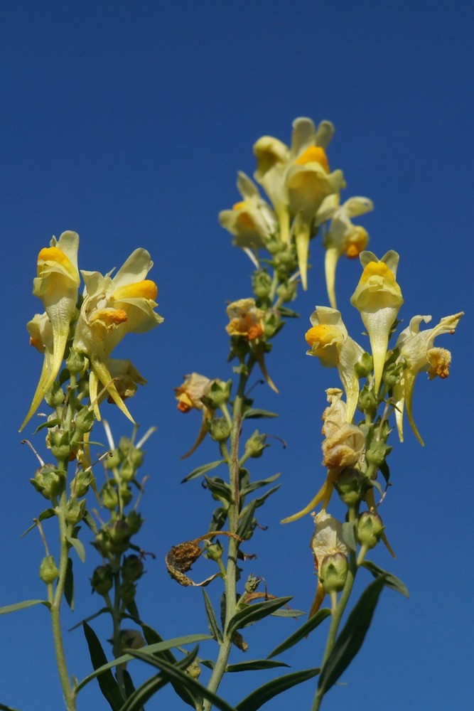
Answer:
[[[65,469],[64,464],[59,462],[59,468]],[[64,644],[63,644],[63,631],[61,629],[61,602],[63,601],[66,574],[68,572],[68,560],[69,560],[69,546],[68,546],[68,535],[70,535],[70,525],[66,521],[66,509],[68,506],[68,497],[66,492],[60,496],[59,506],[56,508],[56,513],[58,515],[59,521],[59,538],[60,538],[60,560],[59,560],[59,575],[58,582],[56,583],[56,588],[53,594],[53,589],[51,587],[48,597],[50,598],[50,616],[51,616],[51,626],[53,629],[53,641],[54,649],[56,655],[56,663],[58,665],[58,673],[61,683],[61,688],[63,689],[63,696],[65,700],[65,705],[68,711],[75,711],[75,693],[70,684],[70,676],[68,673],[68,667],[66,665]]]

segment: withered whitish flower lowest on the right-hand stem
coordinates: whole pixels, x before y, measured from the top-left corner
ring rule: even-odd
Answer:
[[[343,525],[324,509],[314,515],[315,530],[311,539],[311,550],[314,555],[316,572],[321,573],[323,561],[328,556],[343,555],[348,557],[349,547],[343,538]],[[318,577],[316,597],[311,605],[309,616],[312,617],[321,607],[325,597],[325,589],[321,577]]]

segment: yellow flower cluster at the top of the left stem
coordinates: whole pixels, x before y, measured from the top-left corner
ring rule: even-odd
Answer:
[[[132,252],[117,274],[81,271],[85,289],[79,299],[77,268],[79,235],[63,232],[38,255],[38,276],[33,294],[43,301],[44,313],[28,323],[30,342],[43,353],[43,369],[31,407],[21,425],[25,427],[47,395],[67,360],[70,372],[89,373],[89,395],[97,419],[103,392],[131,419],[124,398],[146,382],[129,360],[114,360],[110,354],[126,333],[144,333],[163,321],[154,311],[156,284],[146,275],[153,266],[149,252]],[[102,392],[99,392],[99,386]]]

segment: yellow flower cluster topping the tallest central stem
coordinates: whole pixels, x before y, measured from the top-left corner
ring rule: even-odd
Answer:
[[[242,201],[222,210],[222,227],[234,235],[234,245],[242,247],[259,265],[258,250],[275,254],[278,245],[294,245],[303,289],[308,286],[309,241],[328,224],[323,237],[326,250],[325,274],[330,304],[335,308],[335,269],[341,255],[357,257],[365,249],[368,233],[352,223],[352,218],[373,209],[368,198],[349,198],[340,204],[345,188],[343,171],[331,171],[326,149],[334,127],[311,119],[293,121],[291,146],[272,136],[262,136],[254,144],[257,168],[254,178],[270,203],[252,180],[238,173],[237,189]]]

